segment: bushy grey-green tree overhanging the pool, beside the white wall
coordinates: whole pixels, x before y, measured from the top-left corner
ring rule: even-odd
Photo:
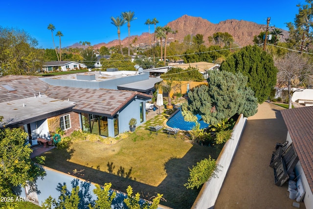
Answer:
[[[185,120],[195,121],[200,114],[204,122],[216,125],[235,114],[248,117],[257,112],[257,99],[241,72],[209,70],[208,75],[208,86],[194,88],[188,93],[188,104],[181,106]]]

